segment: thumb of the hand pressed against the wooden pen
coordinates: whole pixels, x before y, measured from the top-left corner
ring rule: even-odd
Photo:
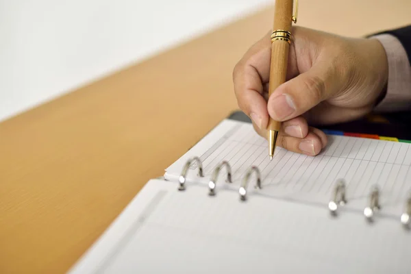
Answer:
[[[316,64],[276,88],[267,104],[271,118],[276,121],[295,118],[330,97],[333,94],[334,69],[325,67],[329,68]]]

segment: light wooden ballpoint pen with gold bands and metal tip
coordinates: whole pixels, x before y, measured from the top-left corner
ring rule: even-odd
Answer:
[[[288,50],[291,43],[291,24],[297,23],[298,0],[295,3],[295,13],[292,15],[292,5],[294,0],[275,0],[273,33],[271,34],[271,66],[269,97],[273,91],[286,82]],[[269,155],[273,160],[275,144],[281,122],[269,118],[268,138]]]

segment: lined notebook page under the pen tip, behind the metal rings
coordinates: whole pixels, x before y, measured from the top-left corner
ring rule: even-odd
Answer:
[[[268,144],[249,123],[223,121],[192,150],[166,169],[166,179],[177,181],[182,166],[192,156],[203,162],[204,177],[195,165],[188,173],[188,184],[208,184],[215,166],[226,160],[232,166],[233,184],[225,183],[221,171],[217,188],[238,190],[251,165],[262,173],[262,190],[271,197],[327,205],[336,179],[347,184],[347,207],[362,212],[369,203],[373,185],[379,186],[382,214],[399,218],[411,189],[410,144],[349,136],[328,136],[327,147],[310,157],[277,147],[272,161]]]

